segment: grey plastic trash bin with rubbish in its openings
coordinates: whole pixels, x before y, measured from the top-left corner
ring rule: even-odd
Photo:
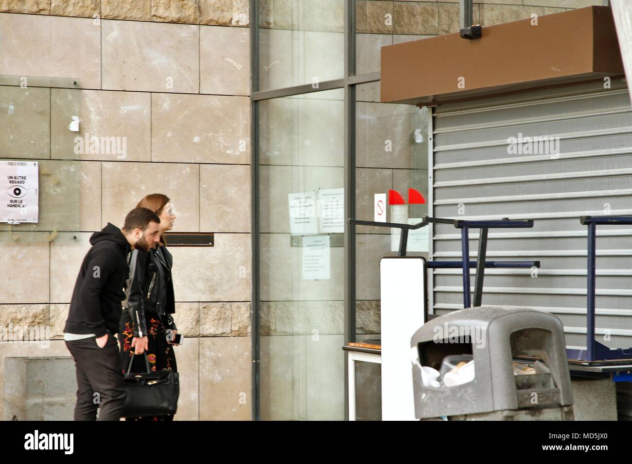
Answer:
[[[473,307],[424,324],[411,338],[421,366],[471,354],[473,380],[423,386],[413,363],[415,417],[449,420],[573,420],[573,392],[561,321],[529,309]],[[545,373],[514,375],[513,358],[537,356]],[[550,373],[546,373],[550,371]],[[436,385],[436,384],[435,384]]]

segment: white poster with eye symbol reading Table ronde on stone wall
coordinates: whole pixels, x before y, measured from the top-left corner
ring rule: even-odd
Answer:
[[[0,160],[0,222],[37,222],[39,163]]]

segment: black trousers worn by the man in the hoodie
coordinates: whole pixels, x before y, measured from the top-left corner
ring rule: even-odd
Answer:
[[[77,402],[75,420],[119,420],[125,403],[125,383],[118,343],[107,334],[106,346],[99,348],[94,336],[66,341],[75,358]]]

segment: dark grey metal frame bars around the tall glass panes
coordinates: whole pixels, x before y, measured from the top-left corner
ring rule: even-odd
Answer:
[[[260,228],[259,228],[259,102],[310,92],[344,89],[344,208],[346,217],[355,217],[355,86],[380,80],[380,73],[355,74],[355,0],[344,0],[344,77],[311,84],[270,90],[259,88],[259,2],[250,0],[250,201],[251,213],[251,342],[252,342],[252,420],[261,419],[260,408]],[[355,225],[345,224],[344,232],[344,343],[355,341]],[[348,364],[344,362],[344,419],[348,420]]]

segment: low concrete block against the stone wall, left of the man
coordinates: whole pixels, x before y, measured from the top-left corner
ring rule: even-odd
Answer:
[[[73,420],[76,389],[70,356],[7,357],[3,420]]]

